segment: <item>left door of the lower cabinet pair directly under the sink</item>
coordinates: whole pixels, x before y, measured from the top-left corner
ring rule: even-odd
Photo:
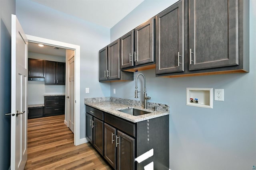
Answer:
[[[116,129],[104,123],[104,158],[116,169]]]

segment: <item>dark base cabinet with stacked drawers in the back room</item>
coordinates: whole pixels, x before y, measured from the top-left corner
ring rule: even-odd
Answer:
[[[65,114],[65,96],[44,96],[44,117]]]

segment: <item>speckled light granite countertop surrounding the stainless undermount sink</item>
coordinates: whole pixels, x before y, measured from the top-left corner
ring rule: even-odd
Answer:
[[[94,107],[96,109],[102,110],[106,113],[110,113],[112,115],[115,115],[117,117],[121,117],[123,119],[126,119],[128,121],[131,121],[133,123],[148,120],[148,119],[153,119],[156,117],[164,116],[164,115],[169,115],[168,111],[154,111],[152,109],[143,109],[139,106],[132,106],[128,104],[120,104],[116,102],[110,102],[110,101],[104,101],[104,102],[84,102],[84,104]],[[140,109],[144,111],[149,111],[151,113],[147,113],[144,115],[129,115],[127,113],[123,113],[121,111],[118,111],[120,109],[128,109],[128,108],[135,108],[135,109]]]

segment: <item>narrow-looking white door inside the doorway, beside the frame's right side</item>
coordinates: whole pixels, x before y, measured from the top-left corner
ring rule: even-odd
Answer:
[[[74,133],[75,57],[68,60],[68,127]]]

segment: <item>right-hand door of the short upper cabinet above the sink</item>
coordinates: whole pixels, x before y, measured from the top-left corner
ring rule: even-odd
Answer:
[[[154,18],[135,28],[135,65],[154,61]]]

